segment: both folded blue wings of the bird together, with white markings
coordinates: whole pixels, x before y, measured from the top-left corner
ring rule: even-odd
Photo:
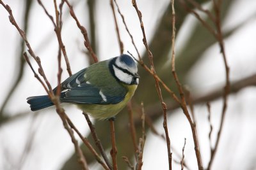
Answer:
[[[61,83],[60,101],[62,103],[76,103],[76,104],[116,104],[124,100],[127,90],[120,86],[114,89],[110,85],[107,87],[99,87],[91,83],[86,83],[84,74],[86,68],[73,74],[67,80]],[[104,81],[104,80],[102,80]],[[56,92],[56,88],[54,89]]]

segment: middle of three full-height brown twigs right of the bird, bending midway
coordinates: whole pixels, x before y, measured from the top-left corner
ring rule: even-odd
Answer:
[[[193,134],[193,141],[194,141],[194,145],[195,145],[195,153],[196,153],[196,160],[197,160],[197,164],[198,164],[198,169],[203,169],[202,166],[202,160],[201,160],[201,155],[200,155],[200,150],[199,150],[199,146],[198,146],[198,138],[196,135],[196,125],[193,123],[193,121],[191,120],[191,117],[189,115],[188,112],[188,108],[187,108],[187,104],[186,104],[186,99],[184,96],[184,91],[182,89],[182,85],[180,84],[179,78],[177,76],[177,73],[175,71],[175,8],[174,8],[174,0],[172,0],[172,74],[175,80],[175,83],[178,87],[179,93],[180,93],[180,101],[181,101],[181,108],[184,112],[184,114],[186,115],[189,124],[191,126],[191,130],[192,130],[192,134]]]

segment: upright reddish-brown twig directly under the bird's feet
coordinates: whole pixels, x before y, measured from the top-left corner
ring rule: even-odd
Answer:
[[[111,154],[112,162],[113,162],[113,170],[117,170],[117,162],[116,162],[117,148],[116,148],[114,118],[110,118],[109,123],[110,123],[111,143],[112,143],[112,149],[110,151],[110,154]]]

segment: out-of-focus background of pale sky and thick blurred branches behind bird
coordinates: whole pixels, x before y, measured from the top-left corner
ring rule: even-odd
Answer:
[[[212,1],[196,1],[212,11]],[[37,1],[4,1],[12,8],[13,16],[27,36],[31,47],[42,60],[45,74],[52,87],[57,85],[58,41],[51,20]],[[54,3],[42,1],[52,16]],[[60,3],[60,2],[58,2]],[[93,50],[99,60],[120,54],[116,38],[115,22],[109,1],[70,1],[77,18],[88,30]],[[140,55],[147,64],[147,52],[142,41],[140,22],[131,1],[118,0],[126,24],[131,31]],[[170,1],[140,0],[138,8],[150,50],[154,55],[156,72],[177,95],[170,67],[172,11]],[[228,65],[230,66],[231,93],[220,146],[212,169],[256,169],[256,1],[226,0],[221,7],[221,24],[225,41]],[[196,128],[203,166],[210,159],[210,143],[214,145],[221,120],[222,92],[225,85],[225,67],[220,47],[212,34],[191,14],[180,1],[175,1],[176,10],[176,71],[179,79],[189,90],[193,101]],[[207,15],[198,11],[206,22]],[[122,18],[118,15],[120,36],[124,52],[136,56],[129,34],[125,31]],[[72,73],[89,66],[90,55],[83,45],[83,36],[70,17],[67,5],[63,7],[63,43],[65,44]],[[45,90],[36,80],[22,53],[24,46],[19,33],[8,19],[8,13],[0,6],[0,169],[81,169],[74,154],[74,145],[63,129],[54,107],[31,112],[26,98],[44,95]],[[36,63],[31,59],[36,68]],[[62,80],[68,77],[63,64]],[[139,66],[140,67],[140,66]],[[141,136],[140,103],[143,101],[145,114],[151,118],[156,132],[147,127],[147,139],[143,154],[143,169],[168,169],[161,103],[157,97],[154,78],[140,67],[140,85],[132,99],[134,122]],[[189,169],[197,169],[193,138],[188,120],[177,107],[177,103],[162,89],[168,106],[168,129],[173,159],[180,161],[184,138],[185,162]],[[211,105],[213,125],[212,141],[209,142],[210,125],[206,103]],[[65,111],[84,136],[91,139],[86,120],[74,106],[64,105]],[[115,121],[119,169],[128,169],[122,156],[134,162],[129,118],[125,108]],[[93,120],[97,134],[110,150],[109,124]],[[77,136],[76,136],[77,137]],[[77,137],[79,143],[81,140]],[[92,142],[93,143],[93,142]],[[101,169],[93,155],[81,143],[90,169]],[[175,150],[175,152],[174,152]],[[180,164],[173,161],[173,169]],[[186,168],[185,168],[186,169]]]

